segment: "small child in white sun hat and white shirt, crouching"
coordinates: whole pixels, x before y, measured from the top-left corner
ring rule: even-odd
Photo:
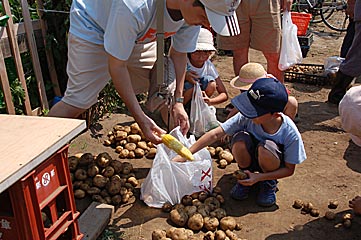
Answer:
[[[216,67],[210,60],[210,57],[215,52],[212,33],[205,28],[201,28],[196,51],[188,53],[183,93],[185,105],[192,100],[194,84],[196,82],[199,83],[203,92],[203,99],[208,105],[212,106],[228,100],[226,87],[219,77]],[[216,91],[218,92],[217,96],[212,97]]]

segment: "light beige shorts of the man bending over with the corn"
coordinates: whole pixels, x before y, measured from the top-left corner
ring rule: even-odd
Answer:
[[[155,42],[135,45],[127,65],[136,94],[148,91],[155,60]],[[104,46],[69,34],[67,73],[68,85],[62,101],[81,109],[90,108],[110,80]]]

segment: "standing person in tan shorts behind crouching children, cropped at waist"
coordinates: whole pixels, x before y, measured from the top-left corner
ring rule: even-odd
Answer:
[[[233,51],[233,70],[238,75],[249,62],[249,48],[259,50],[267,60],[267,72],[283,82],[278,69],[281,45],[281,10],[290,10],[292,0],[242,0],[236,13],[241,34],[217,35],[218,48]]]

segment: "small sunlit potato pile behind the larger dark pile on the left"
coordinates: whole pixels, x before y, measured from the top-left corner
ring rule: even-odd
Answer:
[[[105,146],[115,148],[119,158],[150,158],[153,159],[157,152],[155,146],[145,140],[144,134],[138,123],[130,126],[115,125],[108,133],[108,139],[104,141]]]

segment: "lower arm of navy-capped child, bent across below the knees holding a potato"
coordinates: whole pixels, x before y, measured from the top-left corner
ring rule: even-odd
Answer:
[[[238,182],[244,186],[252,186],[253,184],[261,181],[285,178],[293,175],[293,173],[295,172],[295,168],[296,164],[285,162],[284,167],[280,167],[272,172],[253,173],[245,170],[244,172],[248,175],[248,178],[244,180],[238,180]]]

